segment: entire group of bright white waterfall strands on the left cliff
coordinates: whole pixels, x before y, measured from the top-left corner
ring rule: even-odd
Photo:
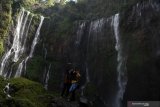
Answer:
[[[11,77],[13,74],[15,77],[21,76],[24,64],[26,64],[27,60],[33,56],[34,48],[37,44],[40,29],[44,20],[43,16],[41,16],[41,21],[39,27],[37,28],[29,56],[19,63],[16,73],[12,73],[12,67],[16,64],[16,62],[20,61],[20,57],[22,57],[26,50],[27,37],[33,19],[33,16],[29,16],[30,12],[22,8],[19,13],[17,25],[13,34],[13,44],[11,45],[11,48],[3,55],[1,60],[0,75],[4,77]]]

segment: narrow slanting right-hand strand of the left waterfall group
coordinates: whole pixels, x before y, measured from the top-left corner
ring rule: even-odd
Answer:
[[[16,74],[15,74],[15,77],[20,77],[20,76],[22,75],[23,66],[25,66],[25,71],[26,71],[27,61],[28,61],[29,58],[32,58],[32,57],[33,57],[33,52],[34,52],[35,46],[36,46],[36,44],[37,44],[37,42],[38,42],[38,38],[39,38],[39,34],[40,34],[40,29],[41,29],[41,27],[42,27],[43,20],[44,20],[44,17],[41,16],[40,24],[39,24],[39,26],[38,26],[38,29],[37,29],[37,31],[36,31],[34,40],[33,40],[32,45],[31,45],[30,54],[29,54],[29,56],[27,56],[27,57],[19,64],[18,69],[17,69]]]

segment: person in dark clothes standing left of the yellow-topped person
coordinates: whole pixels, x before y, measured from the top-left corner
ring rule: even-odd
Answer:
[[[66,67],[66,72],[64,74],[64,83],[63,83],[63,89],[61,92],[62,97],[68,97],[69,95],[69,88],[71,86],[71,72],[73,71],[72,64],[68,63]]]

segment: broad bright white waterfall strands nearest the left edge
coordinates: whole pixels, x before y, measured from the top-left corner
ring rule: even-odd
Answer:
[[[18,16],[17,26],[14,32],[13,44],[9,51],[4,54],[1,60],[0,75],[7,76],[7,71],[4,71],[4,69],[9,64],[9,59],[14,55],[12,61],[17,62],[22,54],[21,50],[24,39],[24,30],[26,28],[29,14],[30,12],[27,11],[27,14],[25,15],[25,10],[24,8],[22,8]]]

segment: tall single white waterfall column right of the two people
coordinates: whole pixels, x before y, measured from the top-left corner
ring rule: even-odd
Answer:
[[[125,57],[122,51],[122,44],[119,35],[119,14],[116,14],[112,17],[111,25],[114,28],[114,35],[116,39],[115,49],[118,53],[117,55],[117,82],[118,82],[118,92],[115,98],[116,105],[115,107],[121,107],[121,101],[123,100],[123,95],[125,92],[127,77],[126,77],[126,66],[125,66]]]

